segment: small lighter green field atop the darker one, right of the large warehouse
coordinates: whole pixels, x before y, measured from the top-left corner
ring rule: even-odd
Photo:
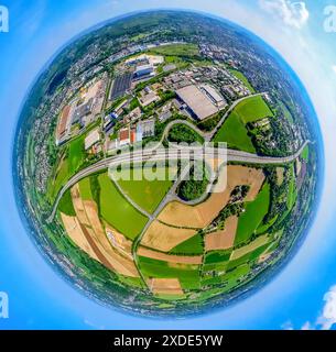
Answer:
[[[261,96],[251,97],[241,101],[235,109],[235,112],[240,117],[243,123],[273,116],[273,112]]]

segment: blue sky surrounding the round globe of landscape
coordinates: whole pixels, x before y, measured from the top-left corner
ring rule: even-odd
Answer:
[[[0,292],[10,318],[0,329],[328,329],[336,321],[336,33],[324,31],[324,8],[306,0],[7,1],[10,32],[0,33]],[[62,4],[59,4],[62,3]],[[336,0],[335,0],[336,6]],[[227,18],[262,37],[294,68],[323,131],[326,175],[316,221],[294,260],[263,289],[226,310],[187,320],[153,321],[107,309],[66,284],[22,228],[11,185],[12,141],[21,103],[36,74],[83,30],[130,11],[184,8]]]

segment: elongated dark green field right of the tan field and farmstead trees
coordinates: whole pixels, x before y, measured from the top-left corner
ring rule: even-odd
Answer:
[[[265,184],[254,201],[248,202],[246,211],[239,217],[235,244],[247,242],[268,213],[270,206],[270,185]]]

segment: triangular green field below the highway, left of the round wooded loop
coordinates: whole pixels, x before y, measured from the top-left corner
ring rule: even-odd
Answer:
[[[130,180],[118,180],[118,184],[124,191],[124,194],[130,197],[136,204],[138,204],[145,211],[153,213],[159,207],[160,202],[167,194],[173,185],[172,180],[148,180],[145,179],[145,172],[140,170],[141,180],[134,180],[134,173],[132,170],[126,169],[124,173],[130,173]],[[160,168],[167,175],[167,169]],[[160,172],[159,170],[159,172]],[[124,178],[124,177],[121,177]],[[167,177],[165,177],[167,178]]]

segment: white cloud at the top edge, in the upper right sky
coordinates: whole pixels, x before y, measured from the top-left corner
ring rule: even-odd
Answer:
[[[285,24],[301,29],[308,20],[310,12],[304,1],[259,0],[260,7],[281,19]]]

